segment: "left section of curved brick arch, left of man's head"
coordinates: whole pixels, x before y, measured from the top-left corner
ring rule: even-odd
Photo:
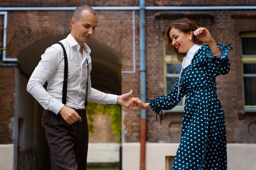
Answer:
[[[24,49],[35,42],[63,34],[67,34],[67,32],[64,33],[63,30],[56,27],[41,27],[20,31],[16,33],[13,38],[11,38],[11,41],[7,44],[7,57],[16,58]]]

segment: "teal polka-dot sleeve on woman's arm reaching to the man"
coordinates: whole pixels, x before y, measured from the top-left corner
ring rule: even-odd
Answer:
[[[150,108],[152,108],[155,114],[158,115],[162,109],[171,110],[184,97],[185,93],[182,88],[180,88],[180,93],[179,93],[179,96],[177,97],[178,83],[179,83],[179,78],[177,79],[177,82],[175,83],[174,88],[169,93],[167,93],[166,95],[158,96],[156,99],[148,100],[148,104]]]

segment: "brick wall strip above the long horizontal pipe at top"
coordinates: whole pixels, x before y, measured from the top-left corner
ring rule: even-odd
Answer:
[[[24,0],[22,2],[18,0],[1,0],[0,1],[2,7],[76,7],[79,4],[88,4],[90,6],[139,6],[139,0],[112,0],[112,1],[103,1],[103,0],[95,0],[95,1],[87,1],[84,2],[82,0],[62,0],[61,2],[58,0],[51,0],[50,2],[47,0]],[[255,5],[254,0],[145,0],[146,6],[238,6],[238,5]]]

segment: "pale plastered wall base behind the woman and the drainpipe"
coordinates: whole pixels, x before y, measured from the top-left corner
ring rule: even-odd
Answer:
[[[166,157],[175,156],[179,144],[147,143],[146,170],[165,170]],[[122,170],[139,170],[140,143],[122,144]],[[256,170],[256,144],[227,144],[229,170]]]

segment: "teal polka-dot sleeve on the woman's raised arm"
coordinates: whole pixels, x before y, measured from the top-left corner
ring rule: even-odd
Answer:
[[[227,54],[229,50],[232,49],[230,45],[222,45],[222,44],[217,44],[220,51],[222,52],[222,55],[220,57],[214,56],[211,53],[211,49],[209,48],[208,45],[205,47],[207,48],[205,53],[206,55],[204,56],[201,60],[201,62],[205,65],[207,65],[207,68],[209,69],[210,72],[212,72],[214,75],[226,75],[229,73],[230,70],[230,62],[229,58],[227,57]],[[229,49],[229,47],[231,49]]]

